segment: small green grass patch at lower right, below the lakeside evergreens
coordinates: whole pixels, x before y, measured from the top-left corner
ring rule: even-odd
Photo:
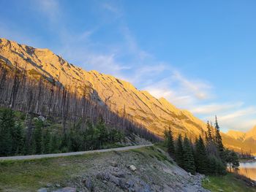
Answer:
[[[225,176],[210,176],[208,179],[203,180],[203,188],[210,191],[225,191],[225,192],[253,192],[256,188],[249,187],[244,181],[235,177],[235,174],[228,173]]]

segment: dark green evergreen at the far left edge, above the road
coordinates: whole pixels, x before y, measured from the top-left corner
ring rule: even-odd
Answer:
[[[0,112],[0,155],[12,153],[12,129],[15,126],[14,114],[10,109]]]

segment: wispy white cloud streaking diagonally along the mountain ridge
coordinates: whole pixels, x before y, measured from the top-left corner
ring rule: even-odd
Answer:
[[[37,0],[31,1],[31,4],[35,11],[44,16],[45,23],[50,25],[50,30],[59,39],[60,46],[56,47],[56,53],[69,62],[86,70],[96,69],[132,82],[157,98],[164,97],[177,107],[192,111],[203,120],[213,120],[214,115],[218,115],[225,130],[247,130],[256,124],[255,107],[245,106],[242,101],[217,102],[211,82],[191,78],[143,50],[125,22],[123,9],[118,4],[99,1],[99,10],[103,12],[102,15],[108,15],[108,19],[102,18],[102,23],[95,23],[94,28],[84,31],[70,31],[66,27],[68,23],[63,20],[64,11],[60,1]],[[104,43],[93,38],[94,34],[113,22],[115,31],[121,36],[118,42]],[[13,31],[0,23],[0,34],[20,41],[21,35]],[[35,45],[32,43],[34,40],[26,34],[23,34],[22,41]]]

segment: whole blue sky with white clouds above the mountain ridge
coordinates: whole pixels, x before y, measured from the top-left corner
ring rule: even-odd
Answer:
[[[222,131],[256,125],[256,1],[160,2],[1,0],[0,36],[218,115]]]

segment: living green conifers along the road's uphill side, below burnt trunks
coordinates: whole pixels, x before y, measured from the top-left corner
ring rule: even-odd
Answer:
[[[124,133],[107,127],[102,118],[95,125],[88,121],[86,128],[81,128],[80,123],[74,124],[66,132],[52,127],[54,125],[42,117],[31,116],[28,121],[22,112],[0,110],[1,156],[96,150],[124,141]],[[26,132],[26,123],[33,127],[31,137]]]

